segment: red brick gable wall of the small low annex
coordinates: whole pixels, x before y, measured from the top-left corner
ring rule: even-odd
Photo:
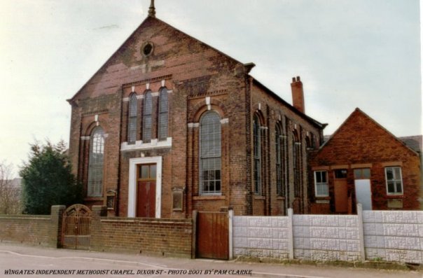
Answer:
[[[333,169],[346,165],[349,193],[352,194],[352,208],[355,207],[354,165],[370,167],[370,184],[373,209],[388,209],[387,200],[399,199],[403,209],[419,209],[417,200],[420,182],[419,156],[382,126],[356,109],[333,134],[333,137],[310,159],[310,167],[328,169],[331,211],[334,211]],[[403,195],[387,195],[384,168],[400,166],[403,176]],[[314,198],[314,181],[310,189]]]

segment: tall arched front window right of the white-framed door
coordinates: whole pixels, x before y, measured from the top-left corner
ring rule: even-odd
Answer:
[[[221,119],[214,111],[200,119],[200,193],[221,193]]]

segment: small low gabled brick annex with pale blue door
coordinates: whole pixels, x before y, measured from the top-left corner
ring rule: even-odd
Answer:
[[[366,210],[418,210],[421,149],[395,137],[360,109],[309,153],[311,212],[352,214]],[[412,144],[409,144],[411,142]]]

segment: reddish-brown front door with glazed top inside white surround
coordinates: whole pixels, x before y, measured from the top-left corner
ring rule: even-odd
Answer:
[[[137,171],[137,217],[155,217],[156,165],[139,165]]]

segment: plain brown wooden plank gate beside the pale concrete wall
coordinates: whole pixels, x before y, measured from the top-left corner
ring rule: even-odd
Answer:
[[[228,260],[228,212],[198,212],[196,251],[197,258]]]

